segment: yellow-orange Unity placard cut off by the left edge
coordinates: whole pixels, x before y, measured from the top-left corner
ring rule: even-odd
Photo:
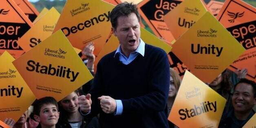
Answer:
[[[0,56],[0,120],[18,121],[35,101],[35,95],[19,71],[12,64],[15,60],[7,51]]]

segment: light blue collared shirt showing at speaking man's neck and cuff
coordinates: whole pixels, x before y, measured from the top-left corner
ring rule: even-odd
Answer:
[[[137,47],[137,49],[134,52],[130,53],[128,58],[122,53],[121,46],[119,45],[118,48],[117,48],[117,51],[115,52],[115,55],[119,54],[119,61],[121,61],[125,65],[128,65],[133,60],[135,60],[135,58],[139,54],[144,56],[144,53],[145,53],[145,42],[143,42],[143,40],[141,40],[141,39],[139,41],[140,41],[139,46]],[[114,57],[115,57],[115,55],[114,55]],[[117,99],[115,101],[117,103],[117,110],[114,113],[114,115],[122,115],[122,113],[123,113],[123,103],[119,99]]]

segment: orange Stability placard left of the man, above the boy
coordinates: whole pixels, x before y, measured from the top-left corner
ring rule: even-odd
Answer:
[[[13,61],[35,96],[60,101],[93,78],[61,30]]]

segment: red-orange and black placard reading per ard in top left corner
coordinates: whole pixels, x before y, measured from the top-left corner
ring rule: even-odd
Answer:
[[[8,51],[14,58],[24,53],[17,41],[33,26],[13,0],[0,4],[0,55]]]

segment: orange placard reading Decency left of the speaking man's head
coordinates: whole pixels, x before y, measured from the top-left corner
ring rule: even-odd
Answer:
[[[113,4],[102,0],[68,0],[53,33],[61,29],[73,47],[81,50],[94,42],[97,56],[109,35],[113,8]]]

